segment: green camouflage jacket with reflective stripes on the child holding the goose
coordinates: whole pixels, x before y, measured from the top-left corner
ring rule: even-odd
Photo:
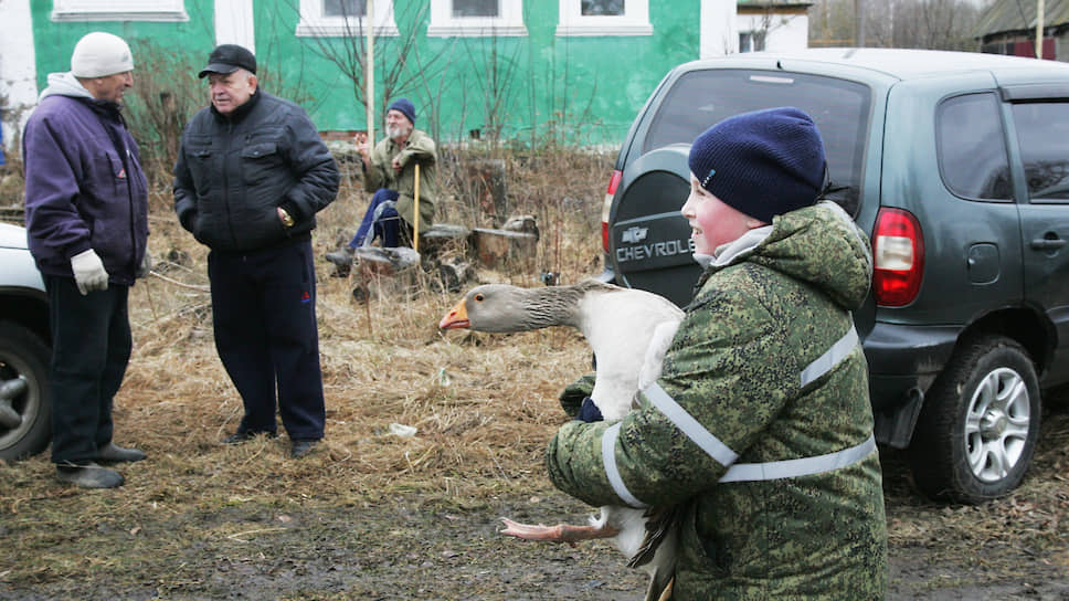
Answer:
[[[867,241],[826,204],[755,234],[707,267],[635,410],[560,429],[550,478],[595,506],[675,506],[674,600],[882,599],[880,464],[850,314]],[[772,463],[790,460],[806,461]]]

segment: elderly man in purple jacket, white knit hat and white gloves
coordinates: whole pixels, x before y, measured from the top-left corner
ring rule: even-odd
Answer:
[[[145,458],[112,442],[112,404],[130,358],[127,295],[148,270],[148,192],[119,112],[134,85],[129,46],[82,38],[23,138],[27,234],[44,276],[52,327],[52,462],[62,482],[114,488],[100,463]]]

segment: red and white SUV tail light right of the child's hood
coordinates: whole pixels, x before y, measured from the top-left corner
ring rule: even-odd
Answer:
[[[924,275],[924,236],[909,211],[880,209],[872,234],[876,303],[902,307],[917,298]]]

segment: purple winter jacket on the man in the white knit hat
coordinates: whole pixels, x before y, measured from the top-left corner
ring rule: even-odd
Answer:
[[[148,182],[118,105],[53,74],[22,140],[27,238],[38,268],[73,277],[93,249],[112,284],[131,285],[148,240]]]

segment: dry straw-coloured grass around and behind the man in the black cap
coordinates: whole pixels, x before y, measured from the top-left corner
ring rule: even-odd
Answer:
[[[601,191],[611,164],[605,158],[561,161],[573,165],[568,179],[576,182],[576,205],[565,207],[539,197],[559,180],[540,170],[514,164],[511,192],[517,212],[541,213],[543,239],[538,264],[560,267],[567,278],[591,275],[600,261]],[[559,172],[559,171],[558,171]],[[448,176],[446,176],[448,177]],[[320,213],[315,246],[317,261],[334,246],[334,232],[349,231],[362,213],[366,194],[346,187],[342,198]],[[445,220],[473,223],[469,207],[452,199],[443,203]],[[525,210],[526,209],[526,210]],[[563,211],[563,212],[562,212]],[[469,214],[465,214],[468,212]],[[170,281],[151,278],[131,295],[131,320],[137,348],[117,399],[119,436],[154,455],[195,456],[218,452],[215,443],[241,419],[241,400],[215,355],[211,307],[205,289],[207,253],[181,231],[170,214],[156,212],[150,246],[158,256],[184,252],[188,268],[159,265]],[[568,223],[559,250],[546,223]],[[578,234],[578,235],[576,235]],[[225,450],[245,454],[232,474],[241,479],[244,462],[272,465],[277,473],[301,472],[294,485],[316,494],[351,494],[404,487],[449,486],[477,494],[515,485],[537,466],[541,445],[561,420],[555,394],[569,378],[589,363],[576,333],[552,330],[518,337],[467,333],[443,334],[437,321],[457,294],[424,286],[411,297],[372,297],[358,304],[352,282],[328,277],[328,263],[318,263],[320,354],[327,399],[327,453],[322,466],[304,468],[285,457],[284,442],[265,441],[251,449]],[[483,278],[538,285],[537,274],[483,273]],[[183,284],[178,285],[176,282]],[[473,348],[477,351],[473,352]],[[417,429],[417,435],[390,433],[393,423]],[[192,450],[190,453],[187,450]],[[189,461],[189,460],[183,460]],[[230,462],[226,462],[230,463]],[[517,472],[517,465],[525,465]],[[468,481],[475,478],[475,483]],[[269,483],[239,484],[263,491]]]

